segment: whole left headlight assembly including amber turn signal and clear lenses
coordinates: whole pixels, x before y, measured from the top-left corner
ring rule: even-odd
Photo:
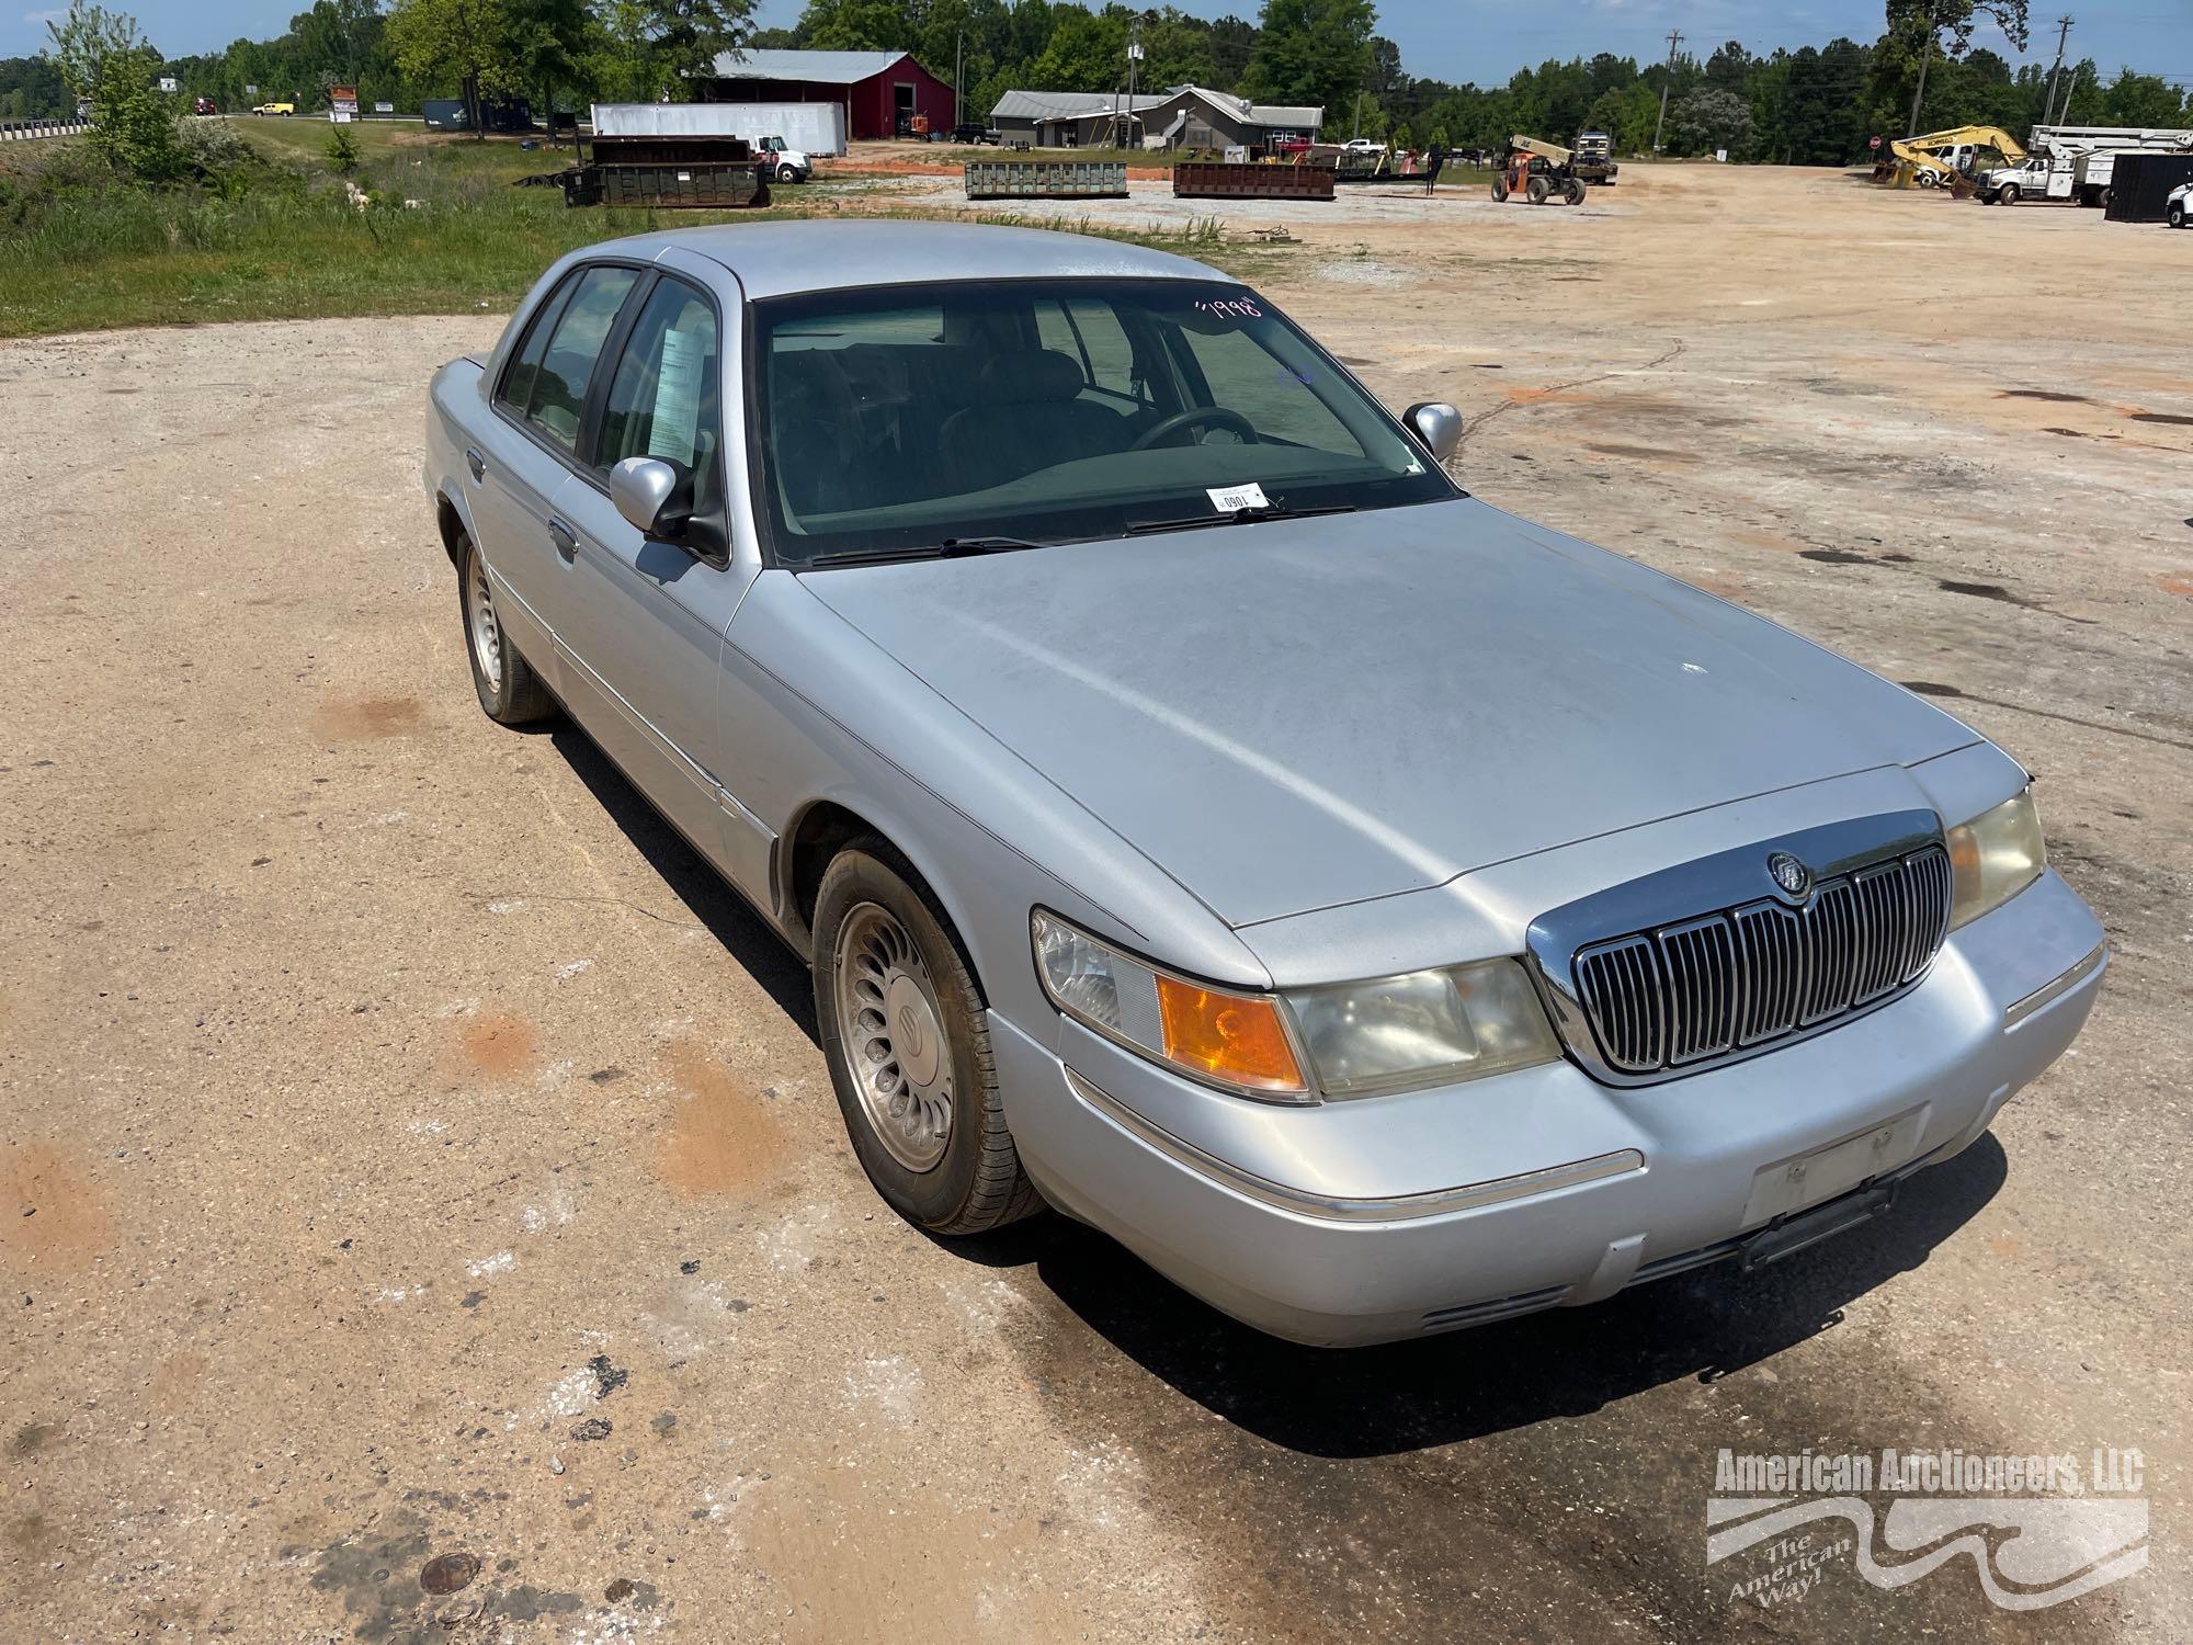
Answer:
[[[1281,1000],[1171,976],[1055,915],[1037,912],[1033,934],[1037,976],[1059,1011],[1250,1097],[1364,1097],[1559,1057],[1531,980],[1507,958]]]

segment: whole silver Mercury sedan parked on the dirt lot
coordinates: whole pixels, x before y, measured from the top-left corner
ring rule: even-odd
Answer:
[[[480,706],[811,965],[899,1215],[1347,1345],[1923,1193],[2107,961],[2013,759],[1458,439],[1180,257],[768,224],[561,259],[423,478]]]

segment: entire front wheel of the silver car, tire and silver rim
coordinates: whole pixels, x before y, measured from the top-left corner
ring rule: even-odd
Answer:
[[[1004,1125],[982,996],[943,908],[882,840],[816,895],[816,1026],[853,1154],[893,1211],[971,1235],[1042,1209]]]

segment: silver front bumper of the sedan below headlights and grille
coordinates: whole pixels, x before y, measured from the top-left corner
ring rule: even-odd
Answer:
[[[2072,1042],[2105,958],[2094,915],[2050,871],[1954,932],[1901,1000],[1632,1090],[1559,1062],[1281,1108],[1064,1020],[1044,1024],[1053,1048],[991,1013],[991,1044],[1022,1160],[1053,1204],[1274,1336],[1382,1342],[1730,1255],[1772,1222],[1768,1176],[1847,1138],[1868,1138],[1864,1182],[1950,1158]]]

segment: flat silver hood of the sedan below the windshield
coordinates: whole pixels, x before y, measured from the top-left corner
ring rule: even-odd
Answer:
[[[800,581],[1237,928],[1976,741],[1474,498]]]

